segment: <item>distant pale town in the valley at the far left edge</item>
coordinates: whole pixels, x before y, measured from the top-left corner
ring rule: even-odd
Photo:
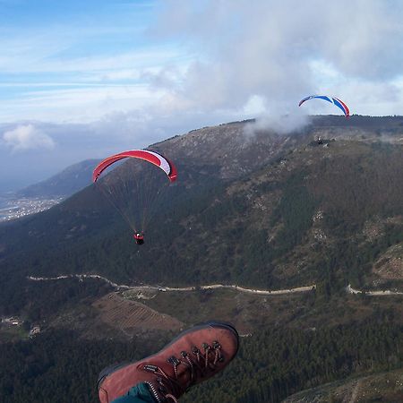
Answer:
[[[63,197],[45,198],[21,198],[3,199],[0,205],[0,222],[38,213],[39,211],[50,209],[55,204],[63,201]]]

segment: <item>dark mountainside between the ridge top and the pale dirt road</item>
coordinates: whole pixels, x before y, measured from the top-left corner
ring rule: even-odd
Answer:
[[[221,149],[239,145],[242,124],[228,124],[227,132],[224,126],[201,129],[155,146],[172,152],[179,179],[168,189],[141,249],[92,186],[51,210],[0,227],[2,281],[13,285],[2,295],[3,306],[23,300],[20,293],[30,287],[26,276],[68,273],[131,284],[318,284],[326,293],[347,283],[399,287],[401,119],[390,118],[384,129],[376,124],[368,129],[359,119],[348,128],[341,118],[337,122],[341,126],[313,125],[291,140],[260,133],[256,143],[248,139],[236,148],[235,166],[244,172],[238,168],[225,178],[234,160],[217,158],[227,150],[216,142]],[[318,131],[323,145],[313,140]],[[223,145],[222,133],[227,140],[237,136]],[[273,157],[249,164],[263,155],[255,155],[263,139]],[[208,156],[208,150],[215,155]],[[193,159],[196,152],[201,157]],[[396,264],[386,270],[390,262]]]

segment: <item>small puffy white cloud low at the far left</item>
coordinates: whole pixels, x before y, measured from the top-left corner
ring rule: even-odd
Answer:
[[[3,134],[4,145],[16,151],[25,151],[32,149],[53,149],[55,141],[35,128],[33,124],[22,124],[13,130],[9,130]]]

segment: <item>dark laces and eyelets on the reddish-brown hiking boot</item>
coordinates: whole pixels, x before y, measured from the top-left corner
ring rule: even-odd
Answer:
[[[193,346],[192,353],[181,351],[180,358],[176,358],[176,356],[169,357],[167,362],[173,366],[173,377],[154,364],[144,364],[142,370],[157,375],[158,388],[152,382],[146,383],[148,383],[151,393],[159,403],[168,401],[177,403],[176,397],[184,394],[186,390],[197,382],[199,377],[203,378],[209,372],[214,371],[217,364],[223,360],[221,345],[215,340],[212,342],[212,346],[208,343],[202,343],[201,350]],[[189,373],[189,381],[186,386],[178,378],[178,368],[182,369],[183,367],[184,371]]]

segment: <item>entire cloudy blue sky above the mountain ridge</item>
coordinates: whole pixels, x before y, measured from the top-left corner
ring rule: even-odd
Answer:
[[[401,0],[0,0],[0,192],[205,125],[339,113],[310,94],[402,115],[402,21]]]

